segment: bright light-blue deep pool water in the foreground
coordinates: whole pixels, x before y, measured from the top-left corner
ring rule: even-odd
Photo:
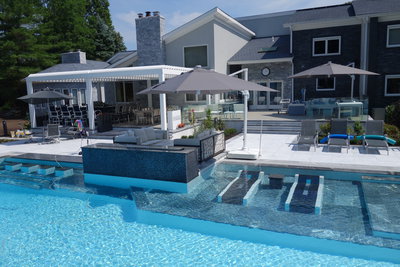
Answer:
[[[0,265],[393,266],[140,224],[75,196],[0,184]]]

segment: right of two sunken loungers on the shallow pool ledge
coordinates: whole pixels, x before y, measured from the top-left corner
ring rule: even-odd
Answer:
[[[324,176],[296,174],[285,211],[321,214]]]

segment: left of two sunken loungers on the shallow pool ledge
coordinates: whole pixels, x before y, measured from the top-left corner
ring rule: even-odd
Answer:
[[[248,205],[257,193],[263,177],[264,172],[240,170],[237,177],[218,195],[217,201],[229,204]]]

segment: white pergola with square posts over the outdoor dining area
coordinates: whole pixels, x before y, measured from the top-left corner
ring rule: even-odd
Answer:
[[[161,83],[165,79],[180,75],[192,69],[155,65],[144,67],[128,67],[115,69],[98,69],[84,71],[65,71],[51,73],[37,73],[29,75],[26,80],[27,93],[33,93],[33,83],[45,82],[81,82],[86,83],[86,103],[88,107],[89,129],[95,129],[93,108],[93,82],[112,82],[127,80],[157,80]],[[149,84],[149,83],[148,83]],[[165,94],[160,94],[161,129],[167,129],[167,102]],[[32,127],[36,127],[36,111],[34,105],[29,105],[29,114]]]

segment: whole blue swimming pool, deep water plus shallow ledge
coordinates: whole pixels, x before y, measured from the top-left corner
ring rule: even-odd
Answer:
[[[328,178],[323,212],[310,215],[285,212],[282,207],[292,176],[299,172],[296,169],[218,164],[202,172],[202,182],[195,190],[177,194],[85,185],[82,166],[66,165],[75,173],[54,183],[51,188],[56,190],[0,184],[0,219],[6,222],[0,226],[1,262],[16,265],[17,258],[25,258],[32,265],[87,261],[113,265],[381,266],[383,263],[376,261],[332,255],[397,263],[400,259],[399,240],[370,233],[361,173],[323,172]],[[283,173],[285,185],[281,190],[259,190],[247,207],[217,203],[218,193],[243,168]],[[0,171],[0,178],[2,175],[12,174]]]

